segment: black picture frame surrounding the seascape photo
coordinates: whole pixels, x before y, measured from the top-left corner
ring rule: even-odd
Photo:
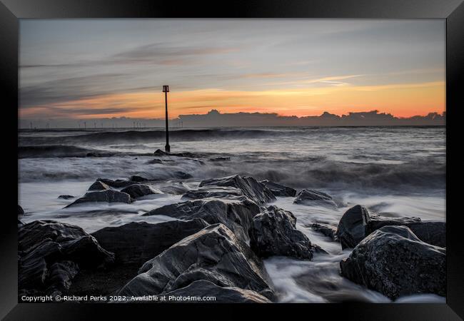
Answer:
[[[340,18],[340,19],[446,19],[446,304],[311,304],[311,305],[103,305],[34,304],[17,302],[17,188],[18,178],[18,51],[19,19],[65,18]],[[0,317],[4,320],[93,320],[134,319],[147,313],[188,312],[186,317],[237,319],[250,312],[274,317],[308,317],[340,320],[461,320],[464,317],[464,219],[458,184],[462,166],[459,129],[464,57],[464,4],[460,0],[240,0],[149,1],[149,0],[0,0],[0,81],[6,117],[4,126],[4,205],[1,215]],[[16,133],[16,139],[15,135]],[[457,143],[455,143],[457,141]],[[456,146],[453,146],[453,144]],[[17,154],[17,153],[16,153]],[[16,170],[15,170],[16,168]],[[7,179],[11,178],[11,179]],[[16,195],[16,200],[15,196]],[[454,206],[455,205],[455,206]],[[456,209],[456,210],[455,210]]]

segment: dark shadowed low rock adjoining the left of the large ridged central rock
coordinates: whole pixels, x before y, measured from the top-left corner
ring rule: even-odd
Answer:
[[[92,233],[92,236],[103,248],[116,255],[116,263],[138,263],[141,266],[174,243],[206,226],[208,223],[201,218],[157,224],[132,222],[118,227],[102,228]]]

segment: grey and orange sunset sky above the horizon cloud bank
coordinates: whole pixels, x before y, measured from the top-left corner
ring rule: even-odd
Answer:
[[[445,111],[445,20],[21,19],[19,117]]]

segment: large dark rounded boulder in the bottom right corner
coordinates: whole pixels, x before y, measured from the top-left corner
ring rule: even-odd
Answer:
[[[424,243],[405,226],[384,226],[362,240],[340,263],[349,280],[396,299],[446,295],[446,250]]]

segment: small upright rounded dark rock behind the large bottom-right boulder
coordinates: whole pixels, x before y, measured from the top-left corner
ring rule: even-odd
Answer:
[[[368,210],[361,205],[355,205],[343,214],[337,228],[342,249],[354,248],[368,235],[369,220]]]

